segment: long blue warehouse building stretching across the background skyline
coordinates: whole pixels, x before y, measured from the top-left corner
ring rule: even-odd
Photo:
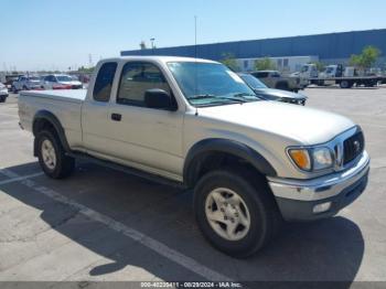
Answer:
[[[386,29],[326,33],[291,38],[232,41],[154,50],[121,51],[121,55],[174,55],[222,60],[225,53],[236,58],[282,57],[282,56],[319,56],[320,58],[345,58],[358,54],[366,45],[386,51]]]

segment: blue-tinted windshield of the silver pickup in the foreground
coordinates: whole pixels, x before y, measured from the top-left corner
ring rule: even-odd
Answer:
[[[193,106],[255,101],[259,98],[243,79],[218,63],[170,62],[175,81]]]

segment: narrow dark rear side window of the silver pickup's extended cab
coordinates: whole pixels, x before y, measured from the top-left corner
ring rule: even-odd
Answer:
[[[100,66],[93,92],[93,97],[95,100],[108,101],[110,99],[114,75],[116,74],[116,62],[107,62]]]

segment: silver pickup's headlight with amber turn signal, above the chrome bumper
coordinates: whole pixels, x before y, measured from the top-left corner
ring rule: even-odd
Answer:
[[[333,153],[329,148],[289,149],[289,156],[303,171],[320,171],[333,165]]]

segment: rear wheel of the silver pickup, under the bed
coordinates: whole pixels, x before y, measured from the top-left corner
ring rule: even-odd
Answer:
[[[55,133],[50,130],[39,132],[36,143],[39,163],[47,176],[64,179],[74,171],[75,160],[65,154],[63,146]],[[50,146],[51,149],[49,148]],[[47,152],[47,150],[51,152]]]

